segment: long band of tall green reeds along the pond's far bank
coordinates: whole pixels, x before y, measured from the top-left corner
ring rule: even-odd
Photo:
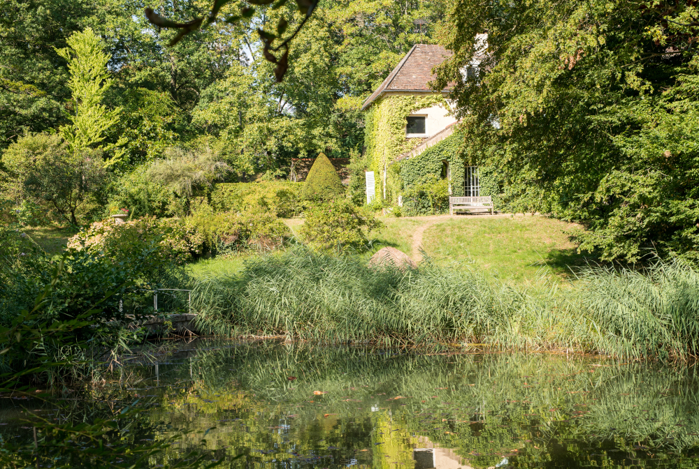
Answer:
[[[578,277],[564,292],[517,289],[429,261],[370,269],[359,258],[294,249],[249,260],[240,274],[196,279],[192,308],[204,330],[231,336],[632,358],[698,351],[699,274],[690,265],[587,267]]]

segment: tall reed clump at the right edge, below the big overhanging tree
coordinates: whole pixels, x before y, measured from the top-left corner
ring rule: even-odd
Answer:
[[[699,272],[682,260],[642,271],[587,267],[579,273],[576,311],[592,327],[591,350],[640,358],[699,352]]]

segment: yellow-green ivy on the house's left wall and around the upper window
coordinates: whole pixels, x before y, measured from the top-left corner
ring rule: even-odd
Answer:
[[[406,151],[417,147],[424,139],[405,137],[405,118],[425,107],[441,104],[447,108],[441,94],[427,96],[384,96],[366,112],[364,129],[367,168],[374,172],[376,198],[383,197],[386,170],[386,202],[396,204],[403,186],[400,165],[391,165]]]

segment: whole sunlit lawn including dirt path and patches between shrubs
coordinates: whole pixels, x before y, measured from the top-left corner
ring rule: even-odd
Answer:
[[[368,258],[384,246],[392,246],[421,260],[424,249],[433,262],[459,269],[477,269],[513,284],[543,280],[563,282],[570,267],[584,265],[568,230],[577,225],[543,216],[421,216],[381,217],[384,228],[369,234]],[[303,219],[284,220],[294,234]],[[194,276],[235,274],[251,255],[200,260],[190,267]]]

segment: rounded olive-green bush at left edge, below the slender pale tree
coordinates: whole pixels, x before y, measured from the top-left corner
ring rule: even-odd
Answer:
[[[29,200],[52,218],[73,225],[89,222],[101,211],[106,174],[99,153],[69,151],[59,135],[25,135],[2,154],[3,191],[18,204]]]

